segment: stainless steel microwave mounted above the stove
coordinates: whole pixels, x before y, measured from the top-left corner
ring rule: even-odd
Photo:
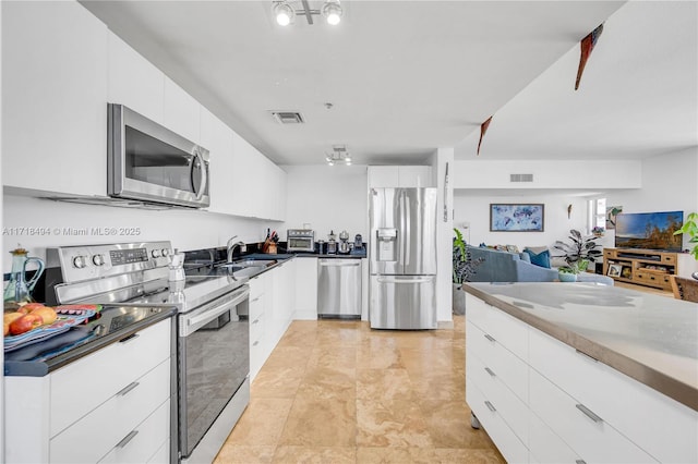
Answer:
[[[107,194],[205,208],[208,150],[123,105],[108,105]]]

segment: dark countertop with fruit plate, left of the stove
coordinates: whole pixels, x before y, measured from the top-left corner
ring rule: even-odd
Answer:
[[[4,353],[4,375],[44,377],[177,314],[177,307],[105,306],[87,323]],[[173,321],[174,319],[172,319]],[[177,328],[172,326],[173,335]]]

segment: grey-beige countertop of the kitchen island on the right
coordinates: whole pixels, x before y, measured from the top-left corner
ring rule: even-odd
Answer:
[[[593,283],[467,283],[462,288],[698,411],[695,303]]]

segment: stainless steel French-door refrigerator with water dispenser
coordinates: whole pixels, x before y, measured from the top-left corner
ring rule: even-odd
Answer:
[[[373,329],[436,328],[436,188],[371,188]]]

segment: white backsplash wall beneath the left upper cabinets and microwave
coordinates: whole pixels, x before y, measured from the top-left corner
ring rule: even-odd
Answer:
[[[108,206],[57,203],[24,196],[3,198],[2,256],[4,272],[10,271],[8,253],[22,244],[29,256],[46,257],[46,247],[97,243],[169,240],[181,251],[225,246],[239,235],[246,243],[264,240],[273,222],[234,218],[203,210],[173,209],[152,211]],[[19,228],[33,228],[16,230]],[[99,235],[93,228],[116,228],[113,235]],[[41,229],[44,229],[41,231]],[[71,235],[67,229],[87,230],[85,235]],[[121,230],[137,229],[133,235]],[[125,232],[125,231],[124,231]]]

